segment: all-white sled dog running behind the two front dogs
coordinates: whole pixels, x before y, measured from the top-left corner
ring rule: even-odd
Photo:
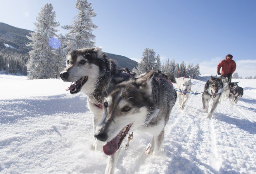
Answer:
[[[177,78],[176,87],[178,89],[180,89],[180,91],[176,91],[176,92],[177,92],[177,96],[178,96],[178,99],[180,102],[180,109],[184,109],[185,103],[189,99],[189,93],[187,93],[187,92],[192,92],[191,86],[192,86],[192,83],[191,83],[190,76],[189,76],[189,78],[185,78],[185,77]],[[181,99],[181,96],[183,96],[183,101]]]

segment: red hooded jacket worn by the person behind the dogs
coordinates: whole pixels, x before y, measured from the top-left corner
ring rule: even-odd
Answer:
[[[217,66],[217,72],[220,72],[220,68],[222,67],[221,75],[228,75],[229,73],[234,73],[237,65],[235,64],[235,61],[232,60],[232,58],[233,56],[231,56],[231,58],[227,60],[226,56],[224,60],[221,60],[221,62]]]

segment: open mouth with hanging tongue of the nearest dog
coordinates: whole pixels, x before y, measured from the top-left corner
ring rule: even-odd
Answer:
[[[123,139],[130,130],[132,124],[125,126],[111,141],[103,145],[103,152],[106,155],[113,155],[120,147]]]

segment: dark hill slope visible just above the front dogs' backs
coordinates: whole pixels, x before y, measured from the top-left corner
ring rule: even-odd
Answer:
[[[116,60],[116,62],[118,63],[118,67],[120,68],[128,68],[129,70],[132,70],[138,65],[137,61],[131,60],[125,56],[114,55],[111,53],[107,53],[107,56],[113,60]]]

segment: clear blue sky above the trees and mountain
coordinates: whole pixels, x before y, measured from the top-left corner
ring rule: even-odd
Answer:
[[[97,16],[96,46],[140,61],[145,48],[180,63],[199,63],[201,74],[231,54],[239,76],[256,75],[256,0],[88,0]],[[61,26],[77,14],[75,0],[0,0],[0,22],[34,30],[45,3]],[[64,34],[66,31],[60,29]]]

